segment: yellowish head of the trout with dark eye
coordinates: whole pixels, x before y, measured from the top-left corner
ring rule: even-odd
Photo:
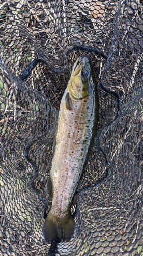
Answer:
[[[71,73],[68,90],[74,99],[83,99],[89,95],[91,60],[89,56],[80,56]]]

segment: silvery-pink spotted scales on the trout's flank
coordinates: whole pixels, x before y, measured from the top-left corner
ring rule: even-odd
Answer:
[[[67,91],[65,92],[65,95],[66,93]],[[77,104],[75,101],[76,100],[74,99],[71,100],[72,105]],[[74,194],[75,182],[79,179],[81,175],[81,172],[79,172],[79,168],[82,169],[82,159],[86,158],[88,153],[88,144],[90,140],[89,137],[87,139],[86,137],[88,136],[91,127],[87,127],[90,126],[90,122],[88,122],[87,120],[91,116],[86,115],[88,114],[87,107],[89,102],[88,100],[87,102],[84,101],[84,99],[80,100],[77,104],[78,106],[73,108],[71,113],[69,113],[69,110],[66,110],[64,108],[65,96],[61,101],[62,108],[59,115],[59,120],[64,119],[64,117],[66,120],[64,120],[64,122],[59,122],[58,125],[56,139],[56,145],[58,146],[56,147],[53,158],[53,162],[56,161],[56,168],[53,165],[51,173],[53,179],[57,176],[60,177],[59,183],[61,184],[61,186],[59,187],[59,183],[53,183],[53,207],[58,207],[59,202],[61,202],[61,197],[59,196],[58,191],[61,191],[61,193],[64,194],[67,193],[67,190],[70,187],[70,193],[68,193],[66,200],[62,202],[63,211],[65,211],[67,207],[70,207],[70,199]],[[82,113],[83,116],[81,116]],[[75,123],[75,120],[78,120],[78,122]],[[67,170],[68,173],[66,173],[65,170]],[[59,175],[57,175],[57,173],[59,173]],[[59,214],[59,212],[57,212],[57,214]]]

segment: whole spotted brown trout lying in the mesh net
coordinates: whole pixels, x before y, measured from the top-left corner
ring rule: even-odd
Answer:
[[[48,193],[52,207],[43,224],[45,241],[68,241],[75,229],[71,205],[97,131],[98,97],[94,70],[81,56],[60,104]]]

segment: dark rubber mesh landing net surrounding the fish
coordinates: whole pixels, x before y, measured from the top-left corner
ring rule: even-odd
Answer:
[[[0,1],[1,256],[143,254],[142,13],[141,0]],[[74,236],[50,245],[41,229],[52,144],[81,55],[98,83],[98,133]]]

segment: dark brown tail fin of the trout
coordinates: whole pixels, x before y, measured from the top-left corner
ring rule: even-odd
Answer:
[[[42,234],[46,242],[52,241],[61,242],[68,241],[74,232],[75,222],[71,213],[67,212],[64,219],[55,217],[52,210],[50,210],[43,227]]]

